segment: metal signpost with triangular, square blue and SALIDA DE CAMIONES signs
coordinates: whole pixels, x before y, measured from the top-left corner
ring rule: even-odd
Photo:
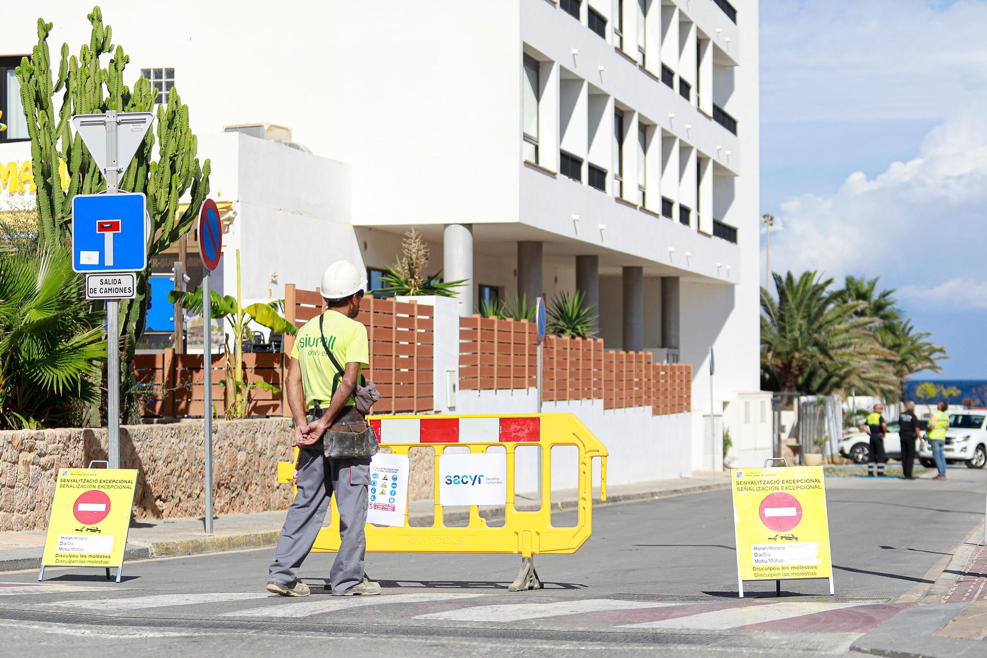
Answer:
[[[121,194],[120,176],[151,127],[150,112],[76,115],[72,126],[107,181],[106,194],[72,198],[72,269],[86,275],[86,296],[107,300],[107,434],[110,468],[120,467],[119,299],[136,296],[135,274],[147,269],[151,239],[147,198]],[[108,277],[107,275],[120,275]],[[118,280],[118,281],[117,281]],[[130,284],[129,288],[127,285]]]

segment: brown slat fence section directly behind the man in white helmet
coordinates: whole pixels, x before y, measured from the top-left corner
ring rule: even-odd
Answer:
[[[284,289],[285,318],[301,327],[318,317],[324,301],[318,289]],[[381,399],[374,413],[418,413],[434,409],[434,310],[417,301],[363,297],[356,317],[367,328],[370,371]],[[289,340],[290,339],[290,340]],[[294,339],[286,336],[284,353],[291,354]],[[285,409],[285,413],[287,410]]]

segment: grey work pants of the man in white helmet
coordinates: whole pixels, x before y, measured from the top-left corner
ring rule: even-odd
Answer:
[[[322,529],[329,500],[336,493],[340,510],[340,552],[329,578],[334,594],[342,594],[363,580],[363,554],[367,521],[367,485],[370,459],[329,459],[322,441],[298,452],[298,491],[288,508],[277,540],[270,580],[292,583],[302,561],[312,550]]]

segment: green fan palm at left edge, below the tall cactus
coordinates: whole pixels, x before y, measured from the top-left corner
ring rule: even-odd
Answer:
[[[0,240],[0,429],[64,425],[99,400],[105,314],[66,249],[14,244]]]

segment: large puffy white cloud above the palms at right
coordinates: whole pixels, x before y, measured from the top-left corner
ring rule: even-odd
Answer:
[[[949,293],[987,307],[987,122],[976,107],[931,130],[913,160],[781,207],[775,272],[880,276],[903,298]]]

